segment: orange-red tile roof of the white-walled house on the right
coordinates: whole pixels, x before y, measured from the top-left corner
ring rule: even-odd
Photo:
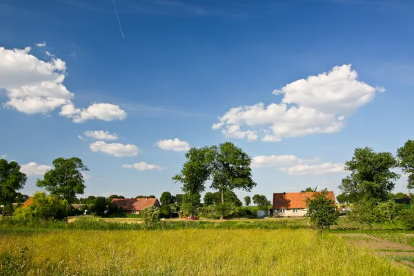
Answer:
[[[313,192],[304,193],[274,193],[273,209],[304,209],[306,198],[313,197]],[[335,201],[333,192],[328,192],[328,198]]]

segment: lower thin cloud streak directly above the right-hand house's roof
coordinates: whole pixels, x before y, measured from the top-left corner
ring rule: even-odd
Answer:
[[[279,170],[282,170],[282,172],[286,172],[288,175],[326,175],[330,173],[344,172],[344,164],[299,164],[287,168],[279,168]]]

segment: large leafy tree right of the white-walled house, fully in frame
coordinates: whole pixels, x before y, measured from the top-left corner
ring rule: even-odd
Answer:
[[[395,187],[395,181],[400,178],[392,171],[396,167],[397,160],[390,152],[356,148],[351,161],[345,162],[345,170],[350,171],[351,175],[342,179],[339,188],[353,203],[364,199],[385,201]]]

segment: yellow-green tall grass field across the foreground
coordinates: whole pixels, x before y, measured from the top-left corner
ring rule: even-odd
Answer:
[[[0,262],[0,275],[411,275],[309,229],[0,231]]]

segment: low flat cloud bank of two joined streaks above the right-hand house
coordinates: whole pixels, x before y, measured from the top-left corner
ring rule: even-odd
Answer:
[[[342,163],[322,163],[319,158],[301,159],[295,155],[259,155],[253,157],[252,167],[276,167],[289,175],[325,175],[344,172]]]

